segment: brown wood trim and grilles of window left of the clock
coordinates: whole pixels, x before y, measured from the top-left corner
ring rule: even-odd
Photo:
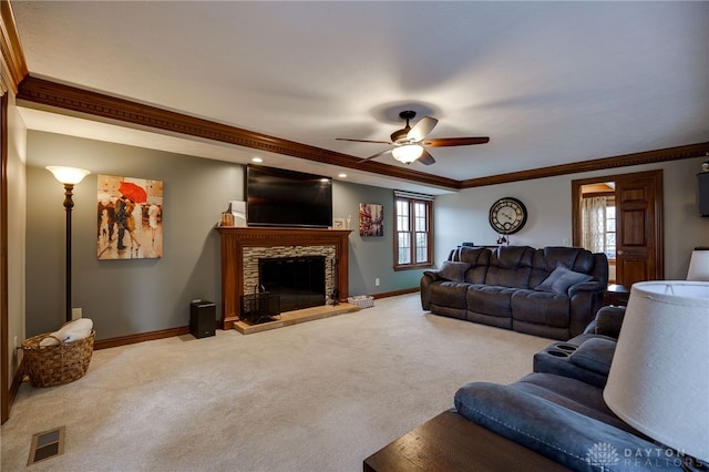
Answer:
[[[409,206],[409,230],[411,234],[411,247],[410,247],[410,260],[409,264],[399,264],[399,202],[405,201]],[[411,270],[433,267],[433,201],[431,195],[414,194],[410,192],[394,191],[394,211],[393,211],[393,269],[397,270]],[[428,247],[427,258],[424,263],[417,263],[417,242],[415,242],[415,204],[425,205],[427,213],[427,234]],[[418,232],[421,233],[421,232]]]

